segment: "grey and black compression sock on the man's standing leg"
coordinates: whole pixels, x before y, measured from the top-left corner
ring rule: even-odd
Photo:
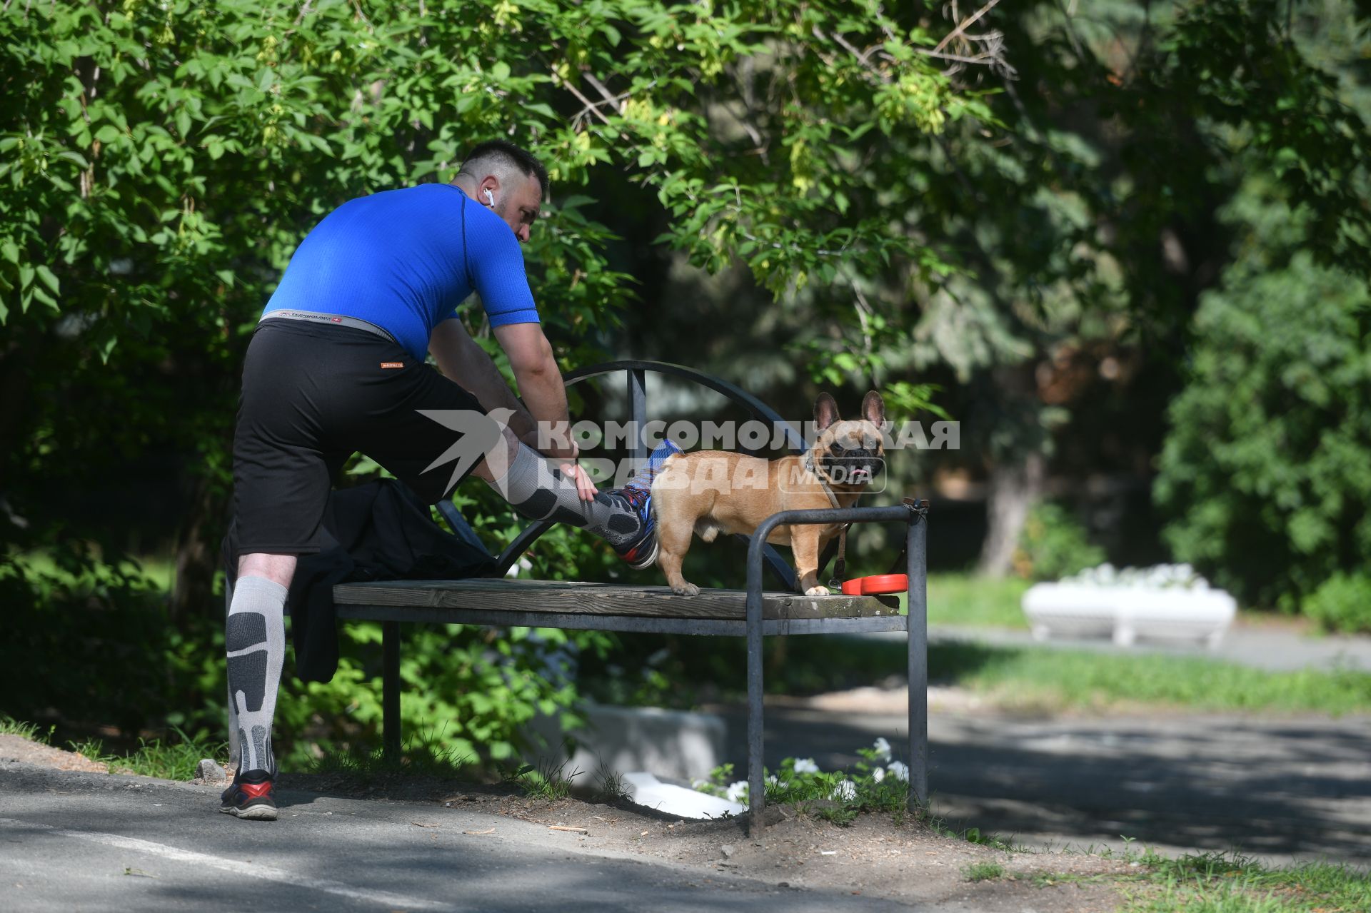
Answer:
[[[271,718],[285,659],[287,588],[266,577],[239,577],[225,646],[229,653],[230,721],[237,727],[239,772],[276,773]]]

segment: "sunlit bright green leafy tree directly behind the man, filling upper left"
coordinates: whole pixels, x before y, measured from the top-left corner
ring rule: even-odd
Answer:
[[[901,165],[894,148],[843,180],[862,163],[864,134],[919,137],[980,110],[932,62],[927,27],[923,11],[890,16],[872,0],[10,4],[0,15],[7,585],[29,580],[26,602],[108,611],[112,591],[78,580],[123,566],[122,552],[140,535],[165,535],[158,521],[170,517],[181,528],[171,618],[204,637],[213,624],[199,620],[221,611],[208,569],[228,504],[237,367],[291,251],[348,197],[450,178],[477,140],[511,136],[553,174],[526,259],[563,366],[596,358],[633,293],[632,277],[607,262],[610,232],[584,215],[596,171],[627,173],[657,195],[672,214],[665,243],[710,269],[738,259],[777,293],[839,266],[943,269],[879,206],[882,170]],[[469,319],[494,352],[478,311]],[[148,481],[126,473],[149,465],[167,503],[121,503]],[[474,488],[463,509],[499,547],[514,518]],[[60,598],[19,573],[15,548],[71,566]],[[611,561],[558,532],[531,570],[591,577]],[[344,690],[372,674],[370,635],[348,636],[339,685],[313,688],[317,705],[282,702],[303,707],[287,720],[296,731],[311,707],[337,716]],[[406,711],[459,717],[457,738],[491,754],[510,750],[531,707],[569,699],[532,654],[500,658],[478,632],[415,640],[409,673],[448,696]],[[191,702],[213,706],[221,648],[200,647],[186,673],[203,687]],[[458,706],[452,694],[469,696]],[[155,717],[160,705],[141,706]],[[366,706],[352,717],[363,729],[374,718]]]

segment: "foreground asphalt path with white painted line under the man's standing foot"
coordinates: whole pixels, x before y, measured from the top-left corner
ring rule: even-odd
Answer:
[[[600,850],[506,816],[280,798],[281,821],[239,821],[208,787],[0,765],[0,910],[913,909]]]

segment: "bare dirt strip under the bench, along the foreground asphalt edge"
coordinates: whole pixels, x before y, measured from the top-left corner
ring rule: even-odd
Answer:
[[[106,768],[80,754],[0,736],[0,765],[22,761],[59,770]],[[1119,876],[1128,862],[1075,853],[1009,853],[935,832],[925,824],[890,816],[861,816],[849,827],[769,809],[768,827],[749,835],[740,820],[690,821],[651,809],[580,799],[547,802],[510,788],[458,784],[430,777],[384,775],[370,779],[284,775],[282,790],[307,790],[373,801],[426,803],[421,827],[441,827],[447,809],[465,809],[546,824],[550,836],[574,833],[590,854],[651,857],[698,873],[702,881],[736,877],[777,887],[846,890],[898,903],[931,903],[939,910],[988,913],[1086,913],[1115,910]],[[473,840],[498,836],[463,832]],[[1004,875],[973,881],[976,864],[999,865]]]

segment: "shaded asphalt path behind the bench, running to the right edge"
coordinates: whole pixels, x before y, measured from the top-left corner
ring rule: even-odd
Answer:
[[[746,716],[728,721],[744,770]],[[766,764],[860,761],[884,736],[901,755],[903,714],[768,707]],[[930,718],[934,813],[1030,849],[1238,850],[1268,862],[1371,866],[1371,718],[1145,716]]]

